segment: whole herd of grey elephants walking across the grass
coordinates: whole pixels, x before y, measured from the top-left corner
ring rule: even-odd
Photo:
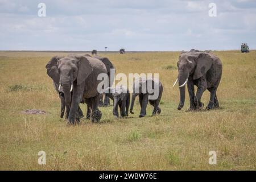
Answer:
[[[177,109],[184,106],[185,101],[185,85],[187,85],[189,93],[190,107],[189,110],[200,110],[204,105],[201,103],[201,96],[207,89],[210,92],[210,101],[207,109],[219,107],[217,99],[217,88],[220,84],[222,74],[221,60],[210,51],[182,51],[177,62],[178,76],[174,85],[178,82],[180,89],[180,102]],[[60,97],[60,117],[68,119],[68,123],[74,125],[79,123],[84,117],[80,108],[80,103],[87,105],[86,118],[92,122],[100,121],[102,117],[99,106],[110,105],[109,98],[113,100],[113,115],[119,117],[127,117],[129,113],[133,113],[135,98],[139,96],[139,105],[141,112],[139,117],[146,115],[146,107],[149,102],[153,106],[152,115],[160,114],[160,100],[163,93],[163,85],[156,78],[151,80],[138,79],[134,81],[133,93],[130,97],[129,89],[125,86],[117,86],[112,88],[113,79],[110,76],[111,69],[115,69],[111,61],[106,57],[75,55],[54,56],[46,65],[47,75],[52,78],[53,86]],[[108,88],[104,88],[104,92],[98,92],[98,75],[105,73],[109,77]],[[153,83],[158,88],[155,98],[151,98],[152,92],[143,90],[142,85]],[[197,86],[195,94],[194,86]],[[148,88],[148,87],[146,87]],[[135,92],[138,90],[138,92]],[[143,92],[144,91],[144,92]],[[104,100],[103,100],[103,95]],[[130,104],[131,100],[131,104]]]

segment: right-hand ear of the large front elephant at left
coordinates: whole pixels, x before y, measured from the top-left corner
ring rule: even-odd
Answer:
[[[79,60],[79,71],[77,74],[77,85],[80,85],[86,78],[92,73],[93,68],[92,64],[90,63],[89,57],[85,56],[78,56],[77,59]]]

